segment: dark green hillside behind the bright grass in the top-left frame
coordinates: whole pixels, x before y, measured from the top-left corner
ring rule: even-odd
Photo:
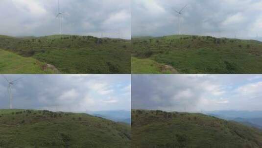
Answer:
[[[0,36],[0,49],[54,65],[65,74],[129,74],[130,40],[92,36]]]

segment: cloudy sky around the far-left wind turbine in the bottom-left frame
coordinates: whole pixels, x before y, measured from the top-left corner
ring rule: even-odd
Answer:
[[[4,75],[13,85],[13,108],[109,111],[131,108],[130,74]],[[8,83],[0,75],[0,109],[9,108]]]

